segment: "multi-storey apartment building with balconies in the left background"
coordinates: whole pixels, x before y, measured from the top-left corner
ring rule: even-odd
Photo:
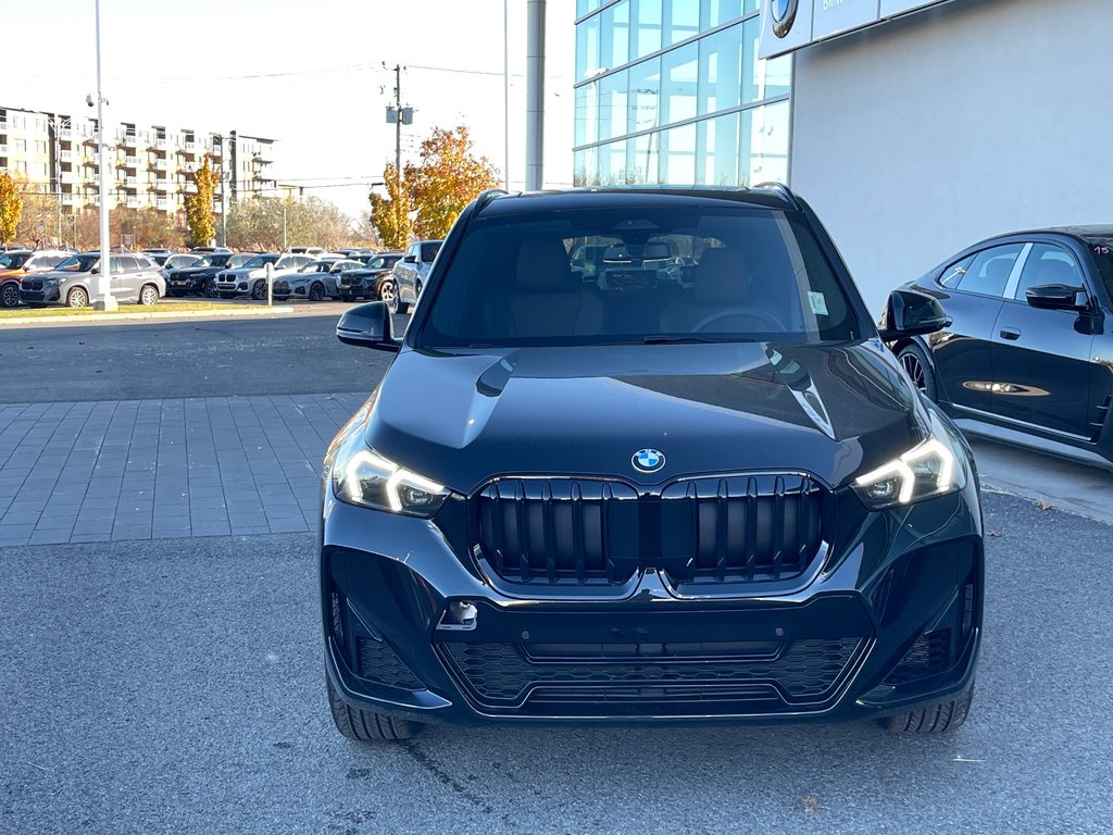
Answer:
[[[206,154],[227,175],[224,200],[219,193],[214,199],[218,214],[225,200],[276,187],[274,139],[129,121],[108,125],[107,138],[114,206],[181,212],[186,196],[197,190],[194,171]],[[58,195],[63,210],[98,206],[97,120],[0,106],[0,170]]]

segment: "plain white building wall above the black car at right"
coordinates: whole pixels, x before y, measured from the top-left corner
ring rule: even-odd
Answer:
[[[1111,32],[1111,0],[954,0],[797,53],[791,185],[871,311],[988,235],[1113,223]]]

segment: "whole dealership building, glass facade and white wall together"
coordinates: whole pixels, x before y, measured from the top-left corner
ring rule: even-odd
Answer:
[[[1110,0],[578,0],[579,185],[787,181],[867,303],[1113,222]]]

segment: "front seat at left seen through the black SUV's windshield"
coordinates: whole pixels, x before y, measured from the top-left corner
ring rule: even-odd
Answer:
[[[563,242],[538,237],[522,242],[513,283],[487,302],[484,316],[495,337],[597,334],[603,307],[582,281],[573,281]]]

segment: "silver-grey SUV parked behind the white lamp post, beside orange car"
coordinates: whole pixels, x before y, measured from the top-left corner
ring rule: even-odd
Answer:
[[[166,282],[154,259],[140,254],[109,257],[109,292],[117,302],[152,305],[166,295]],[[99,272],[100,253],[80,253],[49,272],[23,278],[19,285],[20,301],[29,305],[87,307]]]

